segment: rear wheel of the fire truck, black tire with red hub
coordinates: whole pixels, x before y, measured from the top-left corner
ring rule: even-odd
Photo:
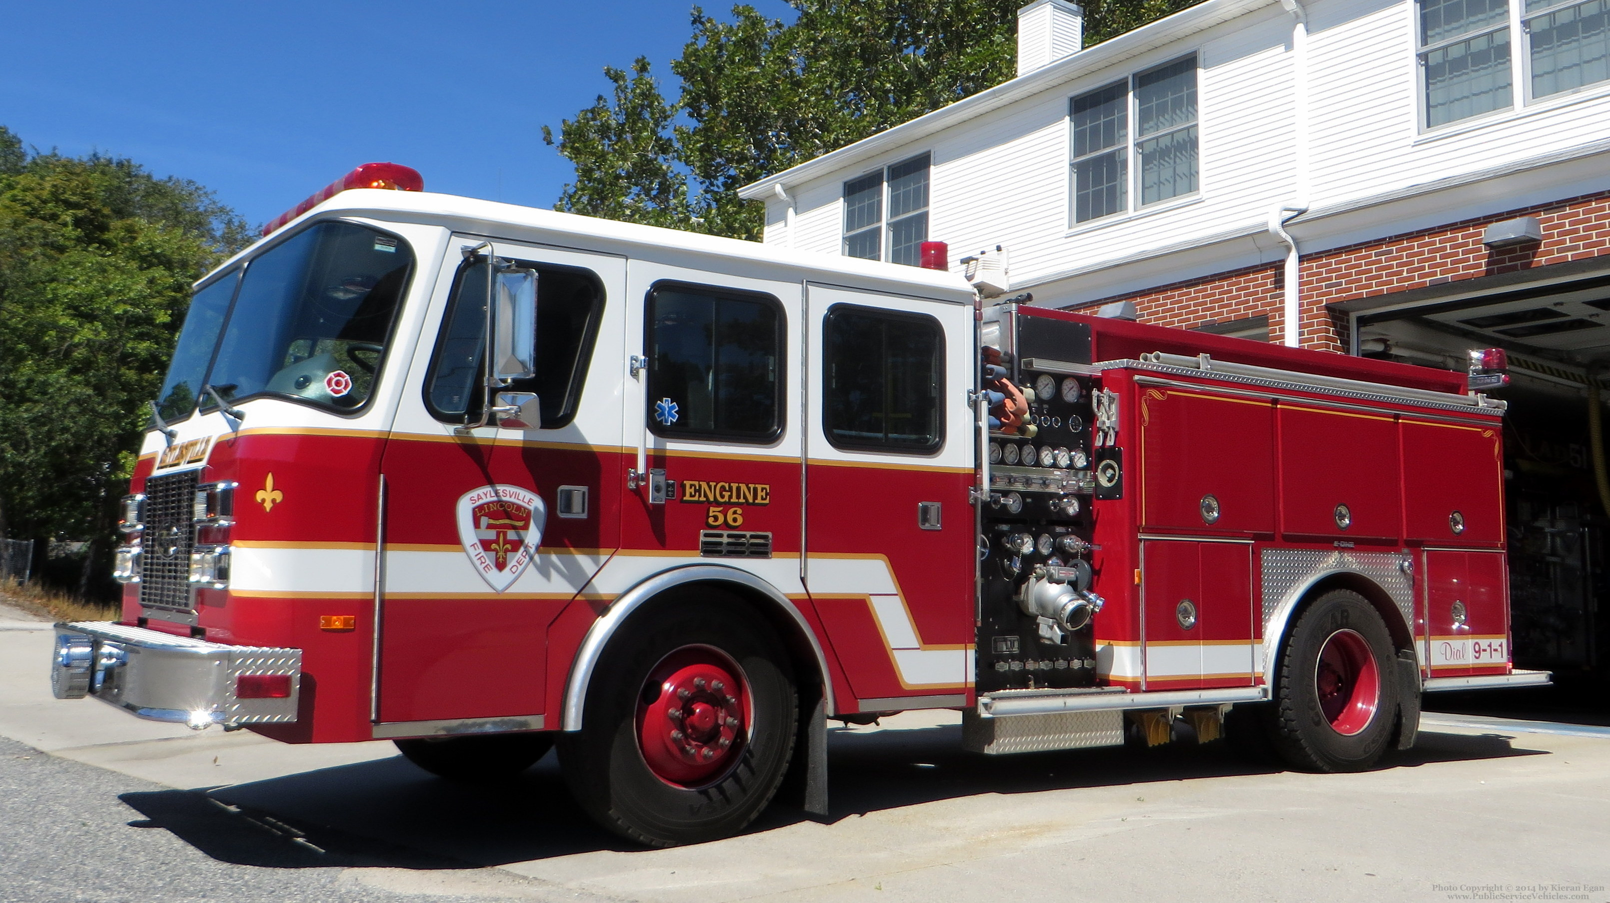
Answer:
[[[1280,660],[1270,737],[1307,771],[1364,771],[1397,721],[1397,657],[1375,608],[1333,589],[1298,616]]]

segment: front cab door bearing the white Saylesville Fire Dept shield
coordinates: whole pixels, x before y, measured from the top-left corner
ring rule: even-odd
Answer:
[[[625,259],[496,240],[538,272],[531,428],[481,419],[486,246],[454,235],[382,460],[377,737],[544,720],[547,626],[620,533]],[[467,248],[477,248],[465,256]]]

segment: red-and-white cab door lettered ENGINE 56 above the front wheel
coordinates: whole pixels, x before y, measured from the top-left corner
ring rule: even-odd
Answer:
[[[621,554],[589,592],[665,568],[747,570],[802,596],[800,287],[633,258],[618,483]]]

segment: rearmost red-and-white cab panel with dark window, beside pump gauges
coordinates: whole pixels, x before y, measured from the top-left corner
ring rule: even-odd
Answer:
[[[976,620],[972,309],[811,283],[807,322],[811,604],[861,710],[960,705]]]

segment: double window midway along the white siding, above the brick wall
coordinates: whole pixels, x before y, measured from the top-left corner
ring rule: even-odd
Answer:
[[[1075,224],[1196,192],[1196,56],[1082,93],[1069,119]]]

